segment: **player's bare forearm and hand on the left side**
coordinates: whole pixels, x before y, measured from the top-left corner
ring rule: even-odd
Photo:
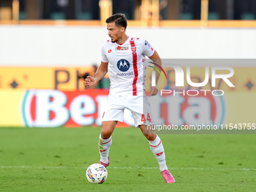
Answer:
[[[84,85],[86,88],[92,87],[94,84],[96,84],[99,80],[104,78],[104,76],[108,72],[108,62],[101,62],[99,68],[97,69],[95,75],[92,76],[87,76],[87,78],[84,81]]]

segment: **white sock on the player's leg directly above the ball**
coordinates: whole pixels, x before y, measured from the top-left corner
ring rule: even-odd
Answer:
[[[108,152],[109,148],[112,144],[112,137],[108,139],[102,139],[101,135],[99,135],[99,154],[100,161],[103,163],[108,163]]]

